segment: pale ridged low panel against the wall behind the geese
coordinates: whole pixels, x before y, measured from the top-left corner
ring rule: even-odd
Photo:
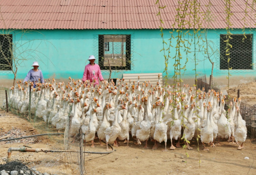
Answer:
[[[132,81],[137,82],[138,76],[140,76],[140,83],[143,83],[144,81],[150,81],[151,84],[156,85],[158,82],[158,74],[160,74],[160,82],[161,85],[163,84],[162,80],[162,73],[139,73],[139,74],[123,74],[123,78],[125,81],[129,81],[130,79]]]

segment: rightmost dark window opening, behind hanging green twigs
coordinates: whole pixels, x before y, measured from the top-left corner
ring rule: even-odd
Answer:
[[[228,70],[227,35],[220,35],[220,70]],[[229,68],[232,70],[252,70],[252,39],[253,34],[230,35]]]

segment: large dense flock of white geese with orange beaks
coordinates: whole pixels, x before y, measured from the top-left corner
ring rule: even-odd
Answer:
[[[230,143],[235,140],[238,149],[244,148],[247,129],[240,114],[240,98],[228,104],[226,113],[226,97],[221,92],[205,92],[179,83],[162,87],[158,77],[155,85],[150,81],[141,83],[138,77],[137,82],[117,79],[116,85],[104,81],[95,87],[90,81],[83,83],[70,77],[66,85],[49,79],[36,83],[32,89],[31,113],[57,130],[68,126],[71,114],[71,136],[75,139],[81,128],[85,142],[94,146],[97,136],[100,144],[101,140],[106,141],[107,150],[108,143],[118,146],[117,139],[129,147],[130,136],[136,144],[145,141],[144,148],[151,139],[155,142],[153,149],[158,148],[158,142],[164,142],[167,150],[167,139],[172,150],[181,147],[180,139],[187,149],[193,149],[189,145],[193,138],[201,139],[204,150],[209,150],[205,144],[214,147],[216,138],[228,139]],[[33,82],[19,81],[9,90],[9,106],[24,115],[29,110],[29,85]]]

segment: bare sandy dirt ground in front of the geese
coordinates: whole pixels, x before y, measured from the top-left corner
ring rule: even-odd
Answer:
[[[33,126],[26,119],[10,112],[0,110],[0,121],[0,134],[12,128],[26,131],[27,135],[38,134],[36,129],[29,131]],[[138,146],[134,141],[131,139],[130,148],[126,148],[126,144],[120,142],[119,147],[114,147],[116,151],[109,155],[85,154],[84,165],[87,174],[256,174],[256,140],[247,139],[243,150],[238,150],[236,144],[222,140],[221,146],[209,147],[209,151],[203,151],[201,143],[198,151],[196,141],[191,143],[194,150],[177,148],[167,151],[163,151],[163,143],[157,150],[152,150],[153,142],[149,143],[148,149],[144,149],[144,143]],[[28,145],[48,149],[51,144],[54,143],[48,137],[37,137],[33,144],[0,142],[0,163],[5,163],[9,147]],[[106,151],[105,146],[100,146],[98,140],[95,140],[95,148],[90,146],[90,143],[86,145],[86,151]],[[167,142],[167,148],[169,147],[170,143]],[[44,156],[42,152],[12,152],[12,159],[26,162],[29,167]],[[68,169],[70,166],[66,164],[65,167]],[[41,170],[44,172],[44,168]]]

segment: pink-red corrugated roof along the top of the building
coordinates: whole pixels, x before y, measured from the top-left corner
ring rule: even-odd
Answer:
[[[182,0],[180,0],[182,2]],[[210,21],[202,21],[201,28],[226,28],[224,0],[201,0],[200,20],[205,20],[210,5]],[[245,17],[245,3],[248,3]],[[255,28],[253,0],[231,1],[232,28]],[[159,29],[160,20],[156,0],[0,0],[0,28],[2,29]],[[175,23],[178,0],[159,0],[164,29]],[[192,9],[188,9],[191,11]],[[245,17],[245,21],[244,18]],[[4,21],[3,21],[4,20]],[[185,17],[193,21],[193,17]],[[4,23],[5,22],[5,23]],[[174,25],[178,28],[178,25]],[[189,28],[188,25],[185,28]]]

